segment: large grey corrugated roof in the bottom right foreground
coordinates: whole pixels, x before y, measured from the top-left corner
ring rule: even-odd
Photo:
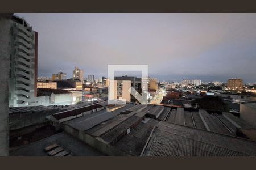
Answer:
[[[141,156],[256,156],[256,142],[160,122]]]

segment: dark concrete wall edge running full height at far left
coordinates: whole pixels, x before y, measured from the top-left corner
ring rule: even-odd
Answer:
[[[0,156],[9,156],[9,71],[10,21],[12,14],[0,14]]]

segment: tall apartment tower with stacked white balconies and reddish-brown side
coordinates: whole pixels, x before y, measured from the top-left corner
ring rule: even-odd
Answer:
[[[10,19],[9,105],[26,106],[36,97],[38,32],[18,16]]]

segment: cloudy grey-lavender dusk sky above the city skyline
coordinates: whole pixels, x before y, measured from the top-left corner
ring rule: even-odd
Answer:
[[[38,76],[148,65],[166,81],[256,82],[256,14],[15,14],[38,32]]]

